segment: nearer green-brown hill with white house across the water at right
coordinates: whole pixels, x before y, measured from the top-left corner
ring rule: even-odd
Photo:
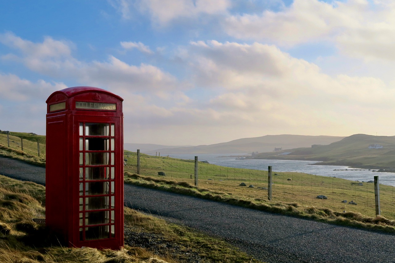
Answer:
[[[378,144],[383,148],[369,148]],[[281,155],[284,152],[291,152]],[[395,169],[395,136],[354,134],[329,145],[293,148],[277,153],[260,153],[258,159],[315,160],[320,164],[346,165],[368,169]]]

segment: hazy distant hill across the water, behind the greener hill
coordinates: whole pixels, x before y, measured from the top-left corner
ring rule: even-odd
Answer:
[[[160,148],[147,153],[161,154],[235,154],[252,152],[273,152],[274,148],[291,149],[311,147],[311,145],[327,145],[340,141],[340,136],[309,136],[309,135],[265,135],[261,137],[243,138],[226,143],[198,145],[192,147]]]

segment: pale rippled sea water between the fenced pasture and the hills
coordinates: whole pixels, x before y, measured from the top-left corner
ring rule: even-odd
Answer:
[[[379,176],[379,183],[395,186],[395,173],[382,173],[376,171],[362,170],[350,171],[350,169],[357,169],[348,166],[339,165],[316,165],[319,161],[297,161],[297,160],[236,160],[235,157],[243,154],[179,154],[169,155],[173,158],[179,159],[190,159],[194,160],[195,156],[198,156],[199,161],[207,161],[211,164],[221,165],[232,168],[243,168],[243,169],[255,169],[265,170],[271,166],[273,172],[299,172],[308,173],[311,175],[321,175],[327,177],[337,177],[352,181],[368,182],[374,179],[375,175]],[[228,156],[228,157],[220,157]],[[335,171],[335,170],[346,170],[347,171]]]

